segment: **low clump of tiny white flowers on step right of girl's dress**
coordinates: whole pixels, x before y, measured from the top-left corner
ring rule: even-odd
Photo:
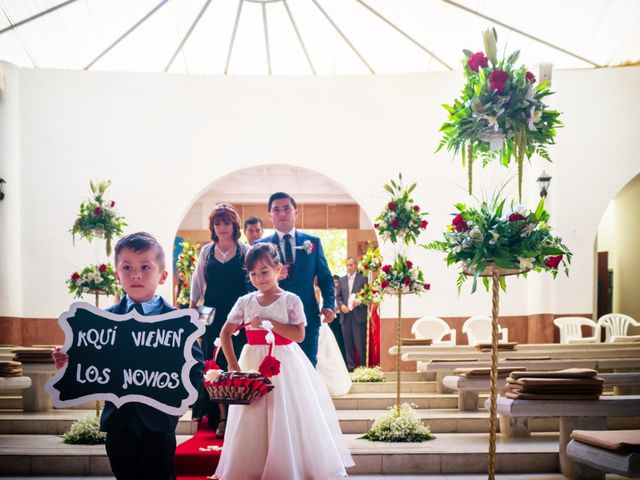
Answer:
[[[436,438],[408,403],[400,405],[400,415],[397,415],[396,406],[389,410],[386,416],[376,419],[371,429],[360,438],[377,442],[424,442]]]

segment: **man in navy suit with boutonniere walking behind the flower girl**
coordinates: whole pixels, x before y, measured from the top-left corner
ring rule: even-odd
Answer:
[[[268,208],[276,232],[258,242],[271,242],[276,245],[283,263],[278,279],[280,287],[295,293],[302,300],[307,328],[300,348],[315,367],[318,360],[320,313],[324,315],[325,322],[332,322],[334,317],[333,278],[320,239],[295,228],[298,210],[293,197],[284,192],[274,193],[269,197]],[[315,277],[318,277],[318,287],[322,293],[321,311],[313,289]]]

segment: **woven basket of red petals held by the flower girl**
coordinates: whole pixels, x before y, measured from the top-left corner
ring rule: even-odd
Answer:
[[[267,377],[255,372],[222,372],[213,382],[205,380],[209,398],[225,404],[249,405],[273,390]]]

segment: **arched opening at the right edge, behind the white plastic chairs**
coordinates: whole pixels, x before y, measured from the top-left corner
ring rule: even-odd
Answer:
[[[611,312],[640,319],[640,174],[609,203],[596,240],[597,317]],[[632,332],[632,334],[640,332]]]

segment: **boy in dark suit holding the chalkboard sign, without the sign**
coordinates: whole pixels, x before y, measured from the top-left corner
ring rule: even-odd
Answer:
[[[126,295],[108,312],[126,314],[135,309],[152,316],[175,310],[156,295],[158,285],[167,279],[167,271],[164,251],[153,236],[140,232],[121,238],[115,247],[115,263],[116,277]],[[197,363],[189,377],[193,385],[198,385],[204,375],[204,357],[197,342],[191,353]],[[69,360],[59,348],[53,358],[57,368]],[[175,478],[177,423],[178,417],[144,403],[125,403],[117,408],[105,402],[100,429],[107,432],[106,450],[116,478]]]

